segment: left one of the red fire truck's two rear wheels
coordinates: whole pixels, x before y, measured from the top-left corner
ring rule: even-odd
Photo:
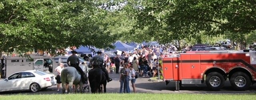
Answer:
[[[211,90],[220,90],[224,87],[225,79],[218,72],[211,72],[206,76],[206,85]]]

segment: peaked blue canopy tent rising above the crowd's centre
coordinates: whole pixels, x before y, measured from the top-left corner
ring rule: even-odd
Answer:
[[[131,51],[131,50],[134,50],[134,47],[129,46],[127,44],[124,44],[123,42],[121,42],[119,40],[117,42],[115,42],[114,44],[112,44],[112,45],[115,46],[115,48],[114,49],[110,49],[110,50],[105,49],[105,52],[106,51],[116,51],[116,50],[120,50],[120,51]]]

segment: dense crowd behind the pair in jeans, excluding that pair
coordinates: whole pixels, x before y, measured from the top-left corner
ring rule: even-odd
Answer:
[[[105,54],[104,60],[110,73],[113,72],[113,67],[116,67],[115,72],[119,74],[119,67],[124,67],[124,63],[128,63],[141,77],[150,77],[150,75],[153,75],[152,73],[156,74],[158,57],[168,51],[169,48],[167,47],[145,46],[141,49],[135,49],[133,52],[124,51],[115,57],[108,57]]]

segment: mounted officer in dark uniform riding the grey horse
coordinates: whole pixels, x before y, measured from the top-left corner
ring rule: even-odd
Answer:
[[[84,79],[84,72],[81,69],[81,67],[79,67],[80,60],[79,60],[78,56],[76,56],[77,52],[76,51],[71,51],[71,52],[72,52],[72,55],[68,57],[67,64],[68,64],[68,66],[75,67],[76,70],[80,72],[82,83],[85,84],[86,81]]]

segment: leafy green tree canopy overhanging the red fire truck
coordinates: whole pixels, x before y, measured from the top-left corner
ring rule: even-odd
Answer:
[[[247,34],[256,30],[255,0],[128,0],[124,10],[134,30],[167,43],[184,38]],[[133,30],[133,32],[134,32]]]

